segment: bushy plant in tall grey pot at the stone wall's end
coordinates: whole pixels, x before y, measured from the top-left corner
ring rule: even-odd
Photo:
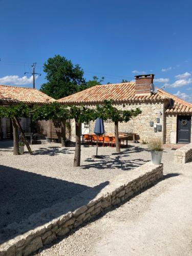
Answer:
[[[161,164],[161,159],[163,155],[162,142],[160,139],[152,139],[150,143],[148,143],[148,148],[152,152],[152,163],[153,164]]]

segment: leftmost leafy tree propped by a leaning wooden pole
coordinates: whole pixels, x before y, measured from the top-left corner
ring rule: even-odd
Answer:
[[[19,117],[29,117],[30,108],[26,104],[18,104],[16,106],[0,106],[0,117],[10,118],[13,126],[13,155],[19,155],[19,138],[18,138],[18,129],[20,129],[21,135],[25,144],[28,148],[29,153],[32,155],[31,148],[25,137],[25,134],[20,126]]]

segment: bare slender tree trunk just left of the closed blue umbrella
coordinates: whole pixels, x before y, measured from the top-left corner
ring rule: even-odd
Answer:
[[[76,145],[75,145],[75,157],[74,157],[74,167],[80,166],[81,159],[81,123],[75,122],[75,137],[76,137]]]

